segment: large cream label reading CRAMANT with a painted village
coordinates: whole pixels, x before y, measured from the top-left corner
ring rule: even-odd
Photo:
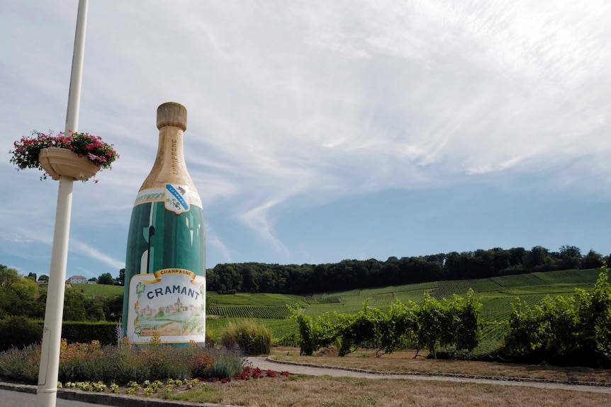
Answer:
[[[168,268],[134,275],[129,283],[127,336],[148,343],[206,340],[206,279],[189,270]]]

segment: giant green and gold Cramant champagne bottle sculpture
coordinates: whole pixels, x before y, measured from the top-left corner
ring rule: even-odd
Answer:
[[[155,164],[136,197],[125,260],[123,330],[131,343],[203,343],[206,266],[203,210],[186,171],[186,108],[157,108]]]

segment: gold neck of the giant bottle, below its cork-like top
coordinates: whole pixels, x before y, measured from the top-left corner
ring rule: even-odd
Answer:
[[[179,127],[166,126],[159,130],[157,157],[149,176],[140,190],[164,188],[165,184],[187,185],[196,191],[195,185],[186,170],[183,150],[184,132]]]

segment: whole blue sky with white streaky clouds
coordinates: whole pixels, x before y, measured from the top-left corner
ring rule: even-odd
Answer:
[[[77,0],[0,0],[0,263],[48,274]],[[118,275],[157,106],[188,110],[206,266],[488,248],[611,253],[608,1],[89,1],[67,276]]]

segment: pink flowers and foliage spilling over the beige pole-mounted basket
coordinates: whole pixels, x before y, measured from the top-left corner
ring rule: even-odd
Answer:
[[[32,137],[21,137],[21,140],[14,142],[15,149],[9,151],[9,154],[12,154],[10,161],[16,164],[17,171],[25,168],[38,168],[40,171],[45,171],[40,166],[38,155],[40,150],[47,147],[69,149],[79,157],[86,157],[100,169],[111,168],[113,161],[119,158],[113,144],[106,144],[102,142],[101,137],[93,134],[71,133],[65,136],[63,132],[54,135],[52,131],[46,134],[36,130],[33,130],[31,134]],[[45,175],[41,176],[40,179],[46,179],[47,175],[45,171]]]

